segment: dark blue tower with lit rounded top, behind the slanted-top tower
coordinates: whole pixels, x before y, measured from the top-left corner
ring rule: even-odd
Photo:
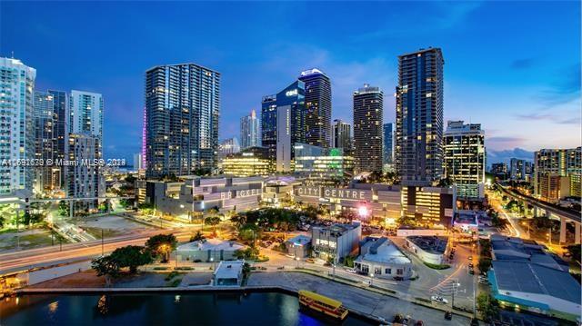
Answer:
[[[306,84],[306,143],[331,146],[331,82],[318,69],[301,73],[299,80]]]

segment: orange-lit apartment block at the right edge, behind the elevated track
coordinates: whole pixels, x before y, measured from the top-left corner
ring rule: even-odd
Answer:
[[[542,149],[534,154],[534,194],[549,203],[580,197],[582,147]]]

